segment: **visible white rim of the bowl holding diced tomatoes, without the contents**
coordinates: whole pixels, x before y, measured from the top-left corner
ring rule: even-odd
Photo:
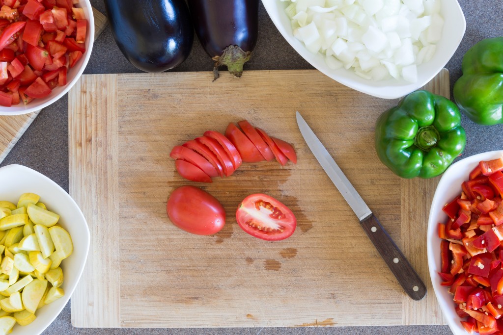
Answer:
[[[84,72],[84,69],[88,65],[89,58],[91,57],[91,51],[93,50],[94,43],[94,16],[93,8],[89,0],[79,0],[75,7],[80,7],[84,10],[86,14],[86,19],[88,19],[88,29],[86,32],[86,52],[83,54],[82,58],[79,59],[77,64],[68,70],[66,75],[67,84],[65,86],[55,87],[51,94],[42,99],[34,99],[32,102],[25,105],[23,102],[13,105],[11,107],[0,106],[0,115],[21,115],[31,113],[47,107],[51,103],[61,98],[70,90],[70,88],[77,82],[78,78]]]

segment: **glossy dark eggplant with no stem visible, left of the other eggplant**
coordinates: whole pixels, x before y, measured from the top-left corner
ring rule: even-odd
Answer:
[[[185,0],[105,0],[117,46],[145,72],[162,72],[189,56],[194,29]]]

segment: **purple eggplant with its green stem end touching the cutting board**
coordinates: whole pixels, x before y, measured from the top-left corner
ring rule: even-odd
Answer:
[[[218,67],[235,77],[251,57],[259,31],[259,0],[188,0],[196,35]]]

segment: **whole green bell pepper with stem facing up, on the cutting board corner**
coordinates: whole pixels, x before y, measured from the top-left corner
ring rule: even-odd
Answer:
[[[465,144],[456,104],[428,91],[410,93],[377,119],[377,156],[402,178],[442,174]]]

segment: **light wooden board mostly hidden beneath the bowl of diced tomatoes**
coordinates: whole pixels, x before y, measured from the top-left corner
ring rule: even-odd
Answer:
[[[95,8],[93,8],[93,15],[95,19],[96,41],[107,26],[107,18]],[[21,136],[30,127],[40,111],[36,110],[33,113],[23,115],[0,116],[0,163],[7,157],[16,143],[18,143]]]

